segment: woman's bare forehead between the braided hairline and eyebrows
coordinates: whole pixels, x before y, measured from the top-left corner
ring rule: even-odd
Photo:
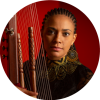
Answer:
[[[45,28],[54,27],[59,29],[73,28],[72,19],[65,15],[53,15],[45,23]]]

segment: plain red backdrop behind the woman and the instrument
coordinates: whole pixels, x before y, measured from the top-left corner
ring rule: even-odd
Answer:
[[[36,26],[36,35],[35,38],[38,39],[39,43],[37,46],[37,51],[39,51],[40,47],[40,29],[42,27],[43,18],[45,17],[45,14],[54,8],[65,8],[71,11],[77,20],[77,39],[75,41],[76,50],[78,52],[79,60],[80,62],[88,67],[92,72],[95,74],[96,70],[99,65],[100,60],[100,41],[99,41],[99,35],[97,33],[97,30],[90,20],[90,18],[79,8],[76,6],[59,1],[59,0],[41,0],[36,1],[36,9],[37,9],[37,15],[38,20],[35,20],[35,23],[33,20],[35,19],[34,13],[34,2],[32,4],[28,4],[27,6],[22,7],[20,10],[18,10],[17,13],[17,32],[21,34],[21,43],[22,43],[22,56],[23,56],[23,62],[28,60],[28,29],[27,27]],[[38,26],[39,21],[39,27]],[[4,27],[4,29],[6,26]],[[6,38],[6,33],[3,31],[1,38]],[[34,38],[34,39],[35,39]],[[4,45],[7,47],[7,43],[2,42],[0,40],[0,45]],[[0,55],[5,54],[7,55],[7,50],[3,51],[0,47]],[[35,57],[37,56],[38,52],[35,52]],[[3,71],[5,72],[5,75],[7,76],[9,74],[8,71],[8,64],[7,64],[7,58],[2,59],[2,56],[0,56],[0,61],[2,64]],[[8,72],[7,72],[8,71]]]

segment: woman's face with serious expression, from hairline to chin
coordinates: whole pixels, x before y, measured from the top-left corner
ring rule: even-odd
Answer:
[[[67,54],[77,37],[74,28],[72,19],[65,15],[51,16],[45,22],[42,39],[49,59],[59,60]]]

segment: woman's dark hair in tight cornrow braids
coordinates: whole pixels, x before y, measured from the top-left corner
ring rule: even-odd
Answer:
[[[45,15],[45,18],[43,19],[43,22],[42,22],[42,24],[43,24],[43,26],[42,26],[42,29],[41,30],[43,30],[44,29],[44,24],[45,24],[45,21],[50,17],[50,16],[53,16],[53,15],[57,15],[57,14],[63,14],[63,15],[66,15],[66,16],[68,16],[68,17],[70,17],[71,19],[72,19],[72,21],[73,21],[73,23],[74,23],[74,25],[75,25],[75,29],[74,29],[74,34],[76,33],[76,26],[77,26],[77,24],[76,24],[76,18],[74,17],[74,15],[71,13],[71,12],[69,12],[69,10],[66,10],[66,9],[63,9],[63,8],[55,8],[54,10],[51,10],[50,12],[47,12],[47,14]]]

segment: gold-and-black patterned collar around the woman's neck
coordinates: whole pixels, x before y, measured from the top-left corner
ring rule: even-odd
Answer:
[[[76,61],[75,63],[67,61],[67,55],[60,60],[50,60],[46,57],[47,64],[47,76],[49,81],[52,82],[55,79],[63,80],[66,74],[72,74],[78,65],[81,63]]]

